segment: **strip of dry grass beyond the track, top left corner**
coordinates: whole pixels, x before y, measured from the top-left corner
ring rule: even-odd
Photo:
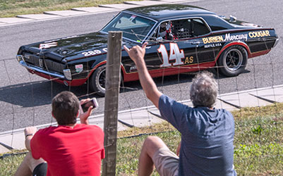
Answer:
[[[140,0],[124,0],[140,1]],[[123,0],[0,0],[0,18],[16,15],[37,14],[44,11],[63,11],[76,7],[101,4],[121,4]]]

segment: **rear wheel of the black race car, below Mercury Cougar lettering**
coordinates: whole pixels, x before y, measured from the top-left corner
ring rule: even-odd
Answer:
[[[219,73],[227,77],[234,77],[243,73],[248,62],[248,53],[243,46],[234,45],[225,49],[217,64]]]

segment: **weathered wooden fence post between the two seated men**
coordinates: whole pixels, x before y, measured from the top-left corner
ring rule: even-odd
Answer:
[[[122,32],[108,33],[106,92],[104,103],[104,147],[106,156],[103,160],[102,175],[116,174],[116,140],[121,70]]]

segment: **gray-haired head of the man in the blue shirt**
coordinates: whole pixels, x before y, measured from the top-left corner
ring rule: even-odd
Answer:
[[[191,84],[191,101],[193,106],[213,108],[217,97],[218,85],[212,73],[203,71],[193,78]]]

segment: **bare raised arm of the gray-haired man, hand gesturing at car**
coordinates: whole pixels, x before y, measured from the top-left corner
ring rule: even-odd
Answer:
[[[158,108],[159,97],[162,95],[161,92],[157,89],[155,82],[152,80],[150,73],[148,73],[147,67],[145,65],[145,47],[147,42],[140,46],[133,46],[133,48],[128,49],[127,46],[124,46],[124,49],[127,51],[128,56],[136,63],[138,69],[138,77],[140,78],[140,84],[145,91],[145,94],[150,101]]]

